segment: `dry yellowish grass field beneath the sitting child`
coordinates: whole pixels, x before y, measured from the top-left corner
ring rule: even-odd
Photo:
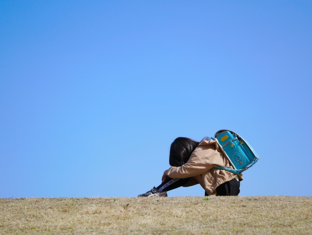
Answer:
[[[312,234],[312,197],[2,198],[0,234]]]

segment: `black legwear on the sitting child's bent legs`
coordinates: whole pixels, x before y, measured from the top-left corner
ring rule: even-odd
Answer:
[[[156,189],[159,191],[170,191],[185,185],[189,180],[190,178],[185,179],[168,178]],[[239,186],[240,182],[235,178],[230,181],[227,181],[216,188],[216,196],[237,196],[240,192]],[[209,196],[207,192],[205,192],[205,196]]]

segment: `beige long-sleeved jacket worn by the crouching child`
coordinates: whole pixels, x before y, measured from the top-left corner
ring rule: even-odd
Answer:
[[[215,166],[233,168],[215,140],[204,140],[193,151],[187,163],[181,167],[171,167],[168,176],[170,178],[188,178],[201,174],[205,190],[209,195],[214,195],[216,187],[234,179],[236,175],[239,181],[243,180],[242,174],[218,170],[214,168]],[[198,184],[198,182],[191,178],[183,187],[195,184]]]

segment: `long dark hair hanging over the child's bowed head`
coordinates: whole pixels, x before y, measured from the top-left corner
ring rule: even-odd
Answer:
[[[199,142],[186,137],[178,137],[172,142],[169,154],[169,164],[172,167],[180,167],[186,163],[197,148]]]

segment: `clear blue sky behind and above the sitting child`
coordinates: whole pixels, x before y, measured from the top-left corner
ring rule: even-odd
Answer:
[[[312,196],[311,102],[312,1],[0,2],[0,197],[137,196],[224,128],[240,195]]]

